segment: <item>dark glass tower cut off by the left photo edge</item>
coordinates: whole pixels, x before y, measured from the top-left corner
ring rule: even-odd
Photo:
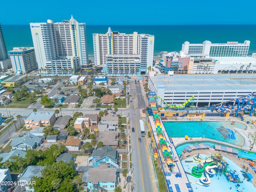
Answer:
[[[0,24],[0,69],[8,69],[10,66],[12,66],[12,64],[10,58],[8,58],[4,34]]]

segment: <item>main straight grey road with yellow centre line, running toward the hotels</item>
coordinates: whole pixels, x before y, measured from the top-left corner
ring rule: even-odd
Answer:
[[[142,87],[139,83],[134,84],[130,81],[129,92],[130,98],[130,122],[131,127],[135,128],[132,132],[132,167],[133,169],[133,184],[134,192],[153,192],[153,183],[150,173],[148,154],[146,149],[145,139],[140,134],[140,110],[144,109],[146,104],[142,96]],[[135,107],[134,107],[135,106]],[[137,107],[138,106],[138,107]],[[142,142],[138,142],[138,138],[142,138]]]

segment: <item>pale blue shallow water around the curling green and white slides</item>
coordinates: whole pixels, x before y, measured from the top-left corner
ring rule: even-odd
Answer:
[[[202,158],[205,158],[205,155],[201,155]],[[242,172],[240,172],[241,168],[236,165],[234,162],[232,162],[230,159],[223,157],[224,160],[226,160],[228,162],[228,171],[232,170],[236,170],[236,172],[239,175],[240,180],[242,181],[242,183],[239,183],[239,187],[237,188],[237,184],[233,183],[233,182],[228,182],[227,177],[222,174],[220,176],[220,174],[218,175],[214,175],[211,177],[211,184],[208,187],[205,186],[201,186],[199,184],[194,183],[195,181],[200,182],[200,178],[196,178],[194,176],[191,176],[189,174],[187,174],[188,179],[191,182],[191,186],[194,192],[256,192],[256,188],[253,186],[252,182],[248,182],[246,181],[246,179],[244,180],[244,176],[242,175]],[[194,160],[193,157],[192,158],[188,158],[186,159],[186,161],[192,161]],[[194,162],[185,162],[185,160],[182,161],[182,165],[184,167],[184,170],[186,172],[191,173],[192,167],[193,166],[197,166],[199,163],[194,163]],[[255,176],[255,175],[253,175]],[[231,187],[231,189],[230,189]]]

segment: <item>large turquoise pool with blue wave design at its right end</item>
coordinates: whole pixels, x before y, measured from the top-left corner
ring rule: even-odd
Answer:
[[[238,146],[244,146],[246,135],[242,130],[247,126],[240,122],[232,125],[232,122],[214,122],[214,121],[181,121],[181,122],[163,122],[166,132],[170,137],[205,137],[222,141]]]

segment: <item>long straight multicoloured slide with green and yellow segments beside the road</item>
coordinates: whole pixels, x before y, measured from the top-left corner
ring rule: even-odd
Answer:
[[[174,162],[174,160],[171,156],[171,153],[170,153],[170,149],[169,149],[169,147],[166,143],[165,135],[162,131],[161,118],[160,118],[160,116],[158,114],[158,110],[156,108],[156,99],[154,97],[150,97],[149,101],[150,101],[150,106],[151,106],[152,112],[154,114],[156,134],[157,134],[157,137],[158,137],[160,148],[161,148],[162,153],[164,155],[165,162],[167,163],[167,165],[175,165],[175,162]]]

